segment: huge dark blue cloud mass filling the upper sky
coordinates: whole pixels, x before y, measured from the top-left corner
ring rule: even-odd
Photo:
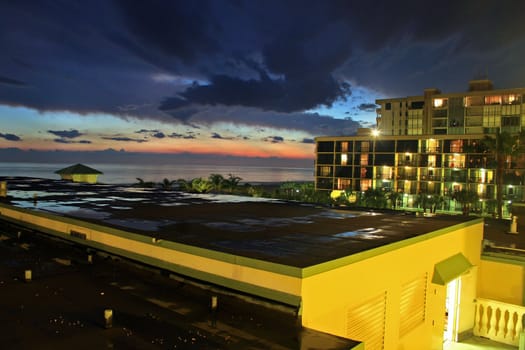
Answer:
[[[0,104],[323,135],[356,122],[305,111],[357,86],[455,92],[479,72],[522,86],[524,21],[522,0],[4,1]],[[255,112],[204,116],[223,106]]]

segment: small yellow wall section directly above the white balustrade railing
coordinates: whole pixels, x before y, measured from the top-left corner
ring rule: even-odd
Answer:
[[[523,305],[524,266],[503,260],[481,260],[478,278],[480,298]]]

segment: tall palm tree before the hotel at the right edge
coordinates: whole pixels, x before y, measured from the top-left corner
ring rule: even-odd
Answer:
[[[488,152],[492,153],[496,160],[496,215],[498,218],[503,216],[503,185],[505,169],[510,167],[511,157],[523,151],[525,131],[517,135],[511,135],[506,131],[498,131],[494,135],[486,135],[483,139]]]

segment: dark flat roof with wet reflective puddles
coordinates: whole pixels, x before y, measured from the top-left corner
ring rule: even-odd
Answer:
[[[0,178],[6,202],[124,231],[308,267],[472,218],[336,210],[273,199]],[[35,200],[36,199],[36,200]]]

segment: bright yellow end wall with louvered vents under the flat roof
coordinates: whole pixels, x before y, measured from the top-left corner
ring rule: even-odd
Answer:
[[[348,337],[346,317],[349,310],[355,310],[370,298],[386,293],[384,348],[441,349],[446,288],[431,283],[434,265],[459,252],[473,265],[479,265],[482,232],[480,220],[470,226],[457,225],[449,228],[448,233],[304,279],[303,325]],[[428,276],[425,321],[401,338],[401,286],[425,274]],[[470,287],[464,290],[470,295],[462,295],[465,303],[460,311],[463,318],[459,332],[468,331],[474,324],[472,310],[476,297],[476,271],[470,274],[470,281],[467,279]],[[369,350],[365,339],[355,340],[364,340],[365,348]]]

